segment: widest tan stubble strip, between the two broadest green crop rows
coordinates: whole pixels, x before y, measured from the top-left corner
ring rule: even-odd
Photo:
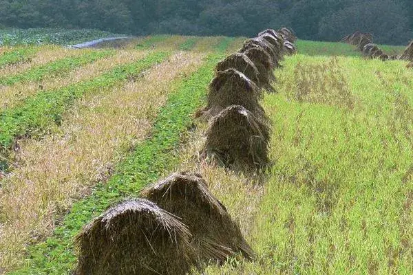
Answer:
[[[182,74],[191,74],[201,60],[200,54],[175,54],[141,80],[87,96],[67,112],[54,134],[21,144],[17,155],[21,166],[3,180],[0,192],[1,216],[6,221],[0,251],[10,252],[3,255],[4,266],[19,259],[16,252],[23,250],[33,232],[50,234],[56,214],[108,177],[123,154],[147,135],[171,86]]]

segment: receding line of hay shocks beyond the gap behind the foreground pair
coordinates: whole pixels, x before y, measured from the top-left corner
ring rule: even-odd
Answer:
[[[275,92],[274,69],[296,52],[296,40],[287,28],[264,30],[218,63],[207,107],[198,113],[209,120],[203,157],[247,173],[268,166],[270,129],[259,99],[264,89]]]

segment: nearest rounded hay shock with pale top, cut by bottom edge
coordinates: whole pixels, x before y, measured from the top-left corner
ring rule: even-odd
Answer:
[[[124,201],[76,236],[78,275],[187,274],[195,265],[187,227],[146,199]]]

